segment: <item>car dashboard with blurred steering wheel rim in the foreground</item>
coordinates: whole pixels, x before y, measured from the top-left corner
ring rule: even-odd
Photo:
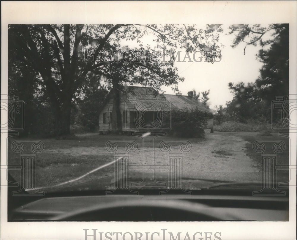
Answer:
[[[193,195],[43,197],[13,209],[9,221],[288,221],[287,196],[200,190]]]

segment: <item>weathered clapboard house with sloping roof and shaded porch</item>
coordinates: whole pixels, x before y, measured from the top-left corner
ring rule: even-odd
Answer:
[[[208,117],[208,129],[213,129],[213,111],[193,98],[175,94],[159,94],[153,88],[123,86],[120,91],[120,112],[122,132],[155,131],[170,129],[168,118],[173,109],[198,108]],[[110,92],[99,108],[99,132],[111,131],[113,94]],[[165,117],[167,116],[167,118]],[[165,119],[166,122],[165,122]]]

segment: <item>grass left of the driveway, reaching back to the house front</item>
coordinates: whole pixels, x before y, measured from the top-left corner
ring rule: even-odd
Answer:
[[[20,165],[20,153],[15,153],[12,151],[10,144],[14,140],[33,140],[33,139],[20,139],[20,138],[9,138],[8,145],[8,163],[10,165]],[[37,139],[35,139],[37,140]],[[44,143],[45,150],[36,154],[36,171],[35,179],[36,186],[53,186],[64,181],[69,181],[75,179],[83,174],[98,168],[105,163],[114,160],[113,154],[83,154],[74,156],[74,154],[65,154],[63,149],[72,149],[80,147],[98,147],[102,149],[106,142],[109,140],[118,141],[119,147],[126,146],[128,141],[135,140],[139,146],[142,146],[141,138],[136,136],[126,136],[126,135],[99,135],[98,133],[93,134],[78,134],[72,140],[56,140],[54,138],[43,138],[38,139]],[[189,140],[192,143],[197,143],[203,139],[199,138],[173,138],[167,136],[160,136],[157,138],[156,143],[159,144],[163,140]],[[178,145],[180,142],[172,142],[172,145]],[[154,136],[146,137],[145,147],[154,146]],[[57,149],[60,149],[57,151]],[[31,146],[25,144],[25,151],[31,151]],[[51,152],[52,151],[52,152]],[[10,170],[11,175],[20,181],[20,171]],[[75,182],[75,184],[80,184],[83,182],[93,182],[93,185],[100,178],[105,178],[114,175],[114,165],[109,165],[106,168],[102,168],[94,174],[84,177],[81,180]],[[69,184],[67,184],[68,186]],[[70,184],[71,185],[71,184]],[[65,186],[64,186],[65,187]],[[59,187],[58,187],[59,188]],[[56,190],[57,188],[52,188]]]

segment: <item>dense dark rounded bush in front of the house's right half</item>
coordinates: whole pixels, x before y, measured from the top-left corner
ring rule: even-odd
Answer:
[[[168,135],[177,137],[204,137],[203,128],[207,125],[205,113],[198,109],[173,110],[172,129]],[[170,119],[164,119],[169,121]]]

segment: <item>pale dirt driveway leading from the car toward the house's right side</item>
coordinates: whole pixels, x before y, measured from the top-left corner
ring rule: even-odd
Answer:
[[[157,138],[156,138],[157,139]],[[192,149],[183,153],[184,178],[212,179],[222,181],[260,181],[261,172],[255,162],[245,153],[245,143],[242,138],[220,133],[207,133],[206,139],[192,143]],[[157,146],[159,146],[157,144]],[[45,149],[50,153],[80,155],[107,155],[104,146],[73,147],[68,149]],[[125,153],[124,147],[119,147],[117,153]],[[178,152],[178,146],[173,146],[172,152]],[[159,147],[142,147],[139,143],[137,151],[129,153],[129,165],[168,165],[168,152],[162,152]],[[152,171],[152,170],[146,170]],[[168,171],[168,170],[161,170]],[[83,174],[83,173],[82,173]],[[92,173],[95,174],[95,173]],[[110,173],[112,176],[114,173]],[[108,174],[109,175],[109,174]]]

